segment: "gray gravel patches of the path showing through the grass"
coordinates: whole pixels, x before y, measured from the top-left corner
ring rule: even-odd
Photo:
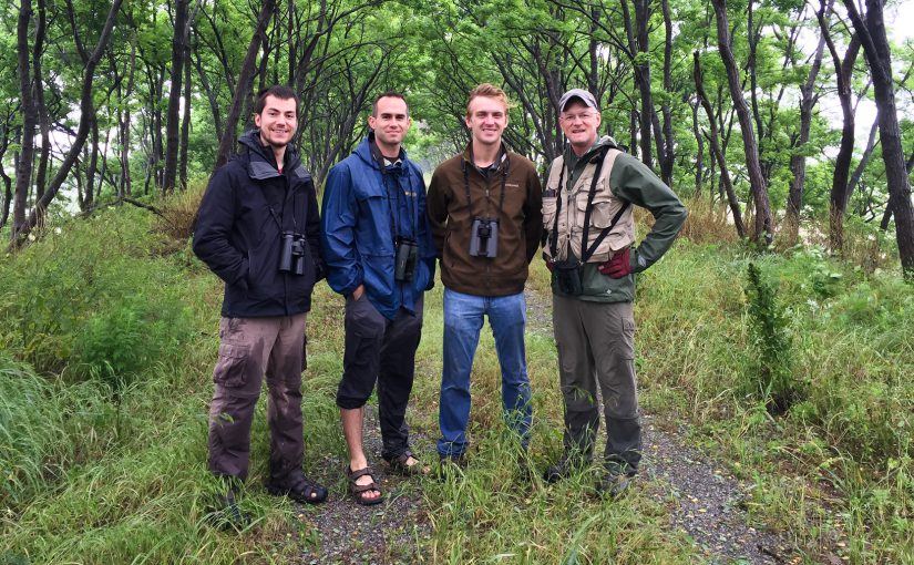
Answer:
[[[551,323],[551,304],[540,296],[527,295],[528,325],[543,328]],[[649,414],[644,418],[645,454],[643,479],[645,492],[665,504],[672,527],[685,531],[711,564],[798,563],[783,537],[756,530],[747,524],[741,508],[749,485],[722,471],[723,466],[690,446],[685,429],[669,430]],[[368,407],[364,428],[366,452],[380,452],[377,409]],[[427,438],[414,438],[420,453]],[[369,455],[372,459],[372,455]],[[342,469],[342,461],[331,461],[331,469]],[[299,563],[304,564],[408,564],[417,559],[417,546],[431,535],[420,481],[387,473],[377,465],[378,479],[388,502],[377,510],[356,504],[343,496],[345,482],[333,485],[330,500],[317,511],[300,514],[316,535],[302,541]],[[341,473],[340,473],[341,476]]]

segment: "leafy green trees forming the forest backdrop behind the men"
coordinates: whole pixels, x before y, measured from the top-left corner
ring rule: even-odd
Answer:
[[[741,237],[797,240],[845,218],[893,234],[914,269],[914,43],[877,0],[21,0],[0,38],[0,227],[170,194],[204,178],[273,83],[301,97],[297,144],[322,183],[403,92],[407,148],[431,170],[468,141],[466,92],[502,85],[505,140],[542,168],[557,102],[599,101],[603,132]],[[887,33],[886,33],[887,32]],[[867,111],[861,111],[867,110]],[[874,112],[873,109],[876,111]]]

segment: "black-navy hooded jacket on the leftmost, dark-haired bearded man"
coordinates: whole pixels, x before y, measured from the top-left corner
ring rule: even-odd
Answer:
[[[311,175],[286,147],[283,173],[250,131],[239,153],[213,174],[201,202],[194,253],[225,281],[222,315],[292,316],[310,310],[322,277],[320,216]],[[305,235],[304,275],[279,271],[280,233]]]

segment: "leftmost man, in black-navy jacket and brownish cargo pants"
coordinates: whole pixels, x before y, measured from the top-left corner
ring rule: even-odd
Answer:
[[[267,490],[304,503],[327,490],[301,471],[301,369],[305,316],[322,277],[320,217],[311,175],[289,145],[298,97],[264,91],[257,129],[209,181],[199,206],[194,253],[225,281],[219,358],[213,372],[209,469],[228,480],[229,518],[242,518],[235,493],[248,473],[250,424],[266,374],[270,459]]]

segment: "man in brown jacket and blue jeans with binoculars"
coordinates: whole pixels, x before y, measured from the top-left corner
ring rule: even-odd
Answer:
[[[438,453],[460,462],[466,450],[470,371],[483,318],[495,338],[502,405],[526,448],[530,380],[526,371],[524,282],[542,234],[542,187],[533,163],[502,143],[507,96],[492,84],[470,92],[466,150],[435,168],[427,210],[444,284],[444,348]]]

